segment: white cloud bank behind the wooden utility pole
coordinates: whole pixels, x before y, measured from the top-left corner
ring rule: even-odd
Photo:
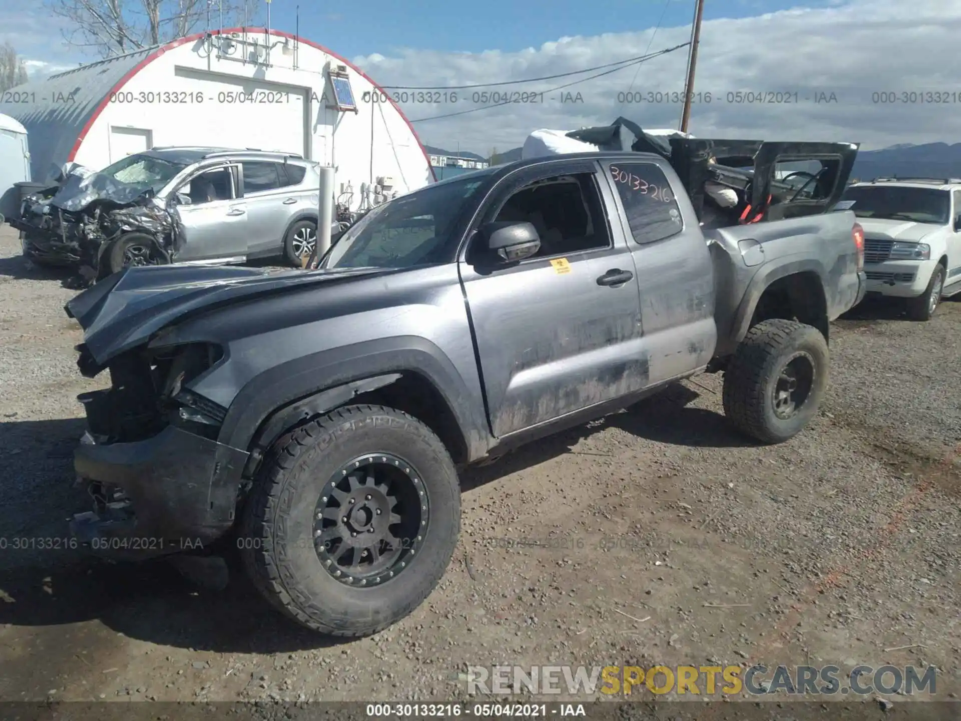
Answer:
[[[505,53],[440,53],[402,50],[394,57],[371,55],[356,60],[383,86],[461,86],[497,83],[569,72],[670,47],[689,39],[689,27],[561,37],[539,48]],[[961,37],[961,7],[944,0],[850,0],[830,7],[798,8],[754,17],[705,21],[690,131],[702,137],[844,140],[862,148],[898,142],[961,140],[961,83],[956,59]],[[520,145],[537,128],[571,129],[605,124],[623,114],[642,127],[677,127],[681,106],[621,103],[618,93],[632,87],[648,92],[683,90],[686,48],[563,92],[580,93],[583,102],[560,102],[548,92],[579,77],[507,87],[480,87],[435,97],[407,91],[400,105],[412,120],[477,107],[479,91],[544,91],[543,102],[505,107],[414,124],[424,142],[486,153]],[[636,80],[631,80],[636,73]],[[590,75],[586,73],[585,75]],[[727,102],[728,91],[790,93],[797,103]],[[917,102],[880,102],[875,93],[921,92]],[[940,91],[949,102],[924,103],[924,91]],[[405,100],[404,90],[391,90]],[[710,103],[704,93],[711,93]],[[824,93],[822,95],[822,93]],[[816,103],[818,97],[832,102]],[[431,100],[440,102],[431,103]],[[624,97],[622,96],[623,100]],[[654,95],[653,99],[657,99]],[[934,99],[933,96],[931,98]],[[734,100],[734,98],[732,98]],[[483,104],[483,103],[481,103]]]

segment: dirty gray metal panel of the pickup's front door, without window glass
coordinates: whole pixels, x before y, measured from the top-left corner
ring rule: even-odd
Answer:
[[[580,165],[573,172],[582,172]],[[596,171],[597,165],[587,167]],[[550,163],[538,172],[566,175],[572,166]],[[496,208],[480,211],[481,219],[484,212]],[[649,385],[633,263],[623,234],[614,231],[608,247],[563,259],[532,258],[492,270],[460,263],[496,437]],[[599,285],[618,269],[630,272],[627,282]]]

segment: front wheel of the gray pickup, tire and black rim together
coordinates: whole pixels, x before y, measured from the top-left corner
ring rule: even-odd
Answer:
[[[349,406],[282,436],[237,545],[260,593],[322,634],[375,634],[444,575],[460,486],[440,439],[400,410]]]

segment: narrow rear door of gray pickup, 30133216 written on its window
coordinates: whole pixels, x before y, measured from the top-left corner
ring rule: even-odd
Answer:
[[[649,383],[688,375],[714,354],[714,268],[697,215],[667,162],[602,163],[628,236]]]

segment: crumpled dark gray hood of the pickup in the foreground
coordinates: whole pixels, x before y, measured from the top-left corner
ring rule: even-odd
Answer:
[[[64,306],[84,329],[84,344],[102,368],[111,358],[174,321],[198,312],[252,298],[358,275],[390,272],[384,268],[290,270],[206,265],[129,267],[87,288]],[[99,368],[98,368],[99,370]]]

